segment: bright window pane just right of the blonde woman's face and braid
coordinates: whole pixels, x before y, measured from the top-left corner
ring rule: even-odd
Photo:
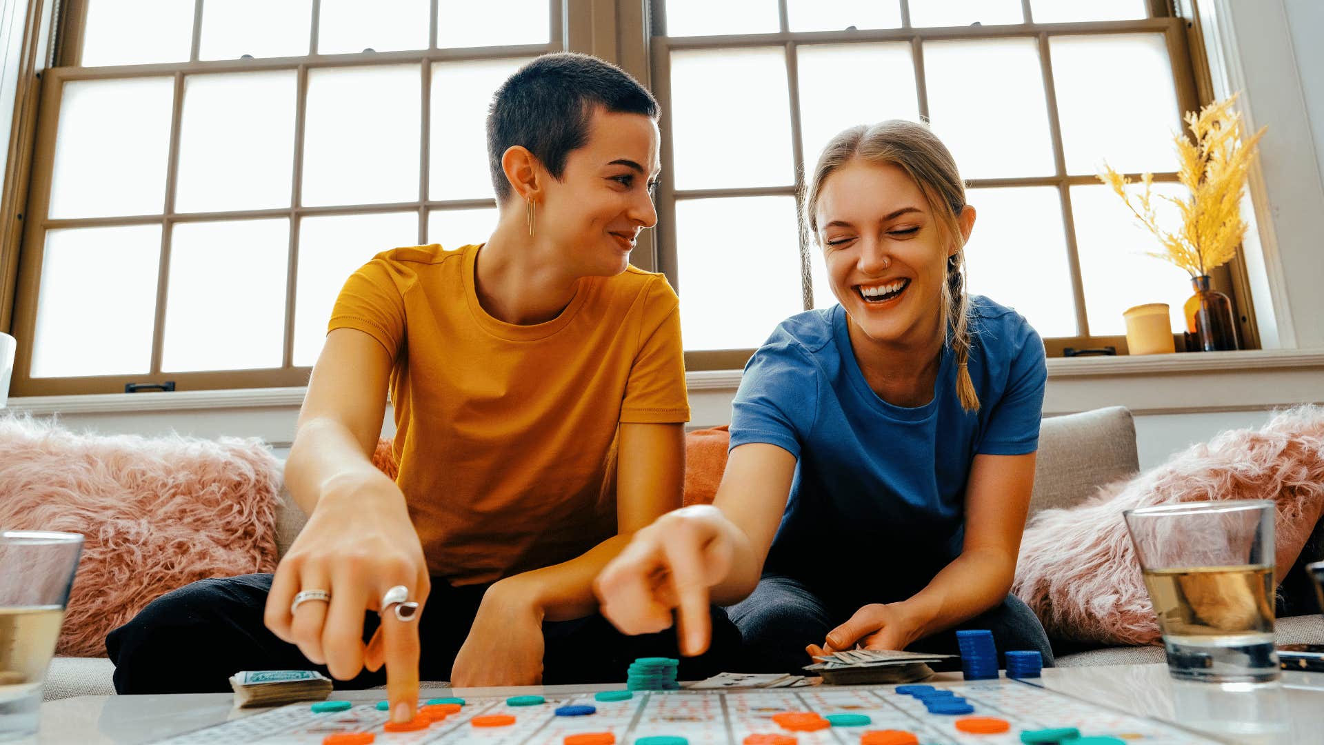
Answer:
[[[1041,337],[1074,337],[1075,294],[1057,187],[972,188],[965,286],[1014,308]]]

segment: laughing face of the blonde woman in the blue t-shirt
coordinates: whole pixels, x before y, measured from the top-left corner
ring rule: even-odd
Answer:
[[[894,163],[851,159],[818,191],[817,225],[833,294],[854,325],[887,345],[931,343],[957,244],[919,184]]]

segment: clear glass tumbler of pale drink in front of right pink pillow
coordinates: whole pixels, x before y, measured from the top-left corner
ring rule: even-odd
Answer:
[[[1263,683],[1274,648],[1274,502],[1188,502],[1123,513],[1173,677]]]

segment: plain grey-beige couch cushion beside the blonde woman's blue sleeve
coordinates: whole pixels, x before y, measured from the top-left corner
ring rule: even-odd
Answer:
[[[1124,407],[1050,416],[1039,427],[1030,516],[1079,504],[1137,471],[1136,423]]]

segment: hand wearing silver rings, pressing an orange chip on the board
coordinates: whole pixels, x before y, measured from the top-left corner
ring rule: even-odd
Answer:
[[[402,622],[383,614],[369,644],[363,643],[367,611],[380,611],[381,595],[404,585],[420,604]],[[418,700],[418,618],[430,589],[418,533],[404,494],[380,472],[342,476],[323,488],[307,525],[281,559],[267,595],[265,622],[303,655],[348,680],[367,667],[387,665],[391,718],[413,718]],[[301,590],[327,590],[330,602],[305,601]]]

